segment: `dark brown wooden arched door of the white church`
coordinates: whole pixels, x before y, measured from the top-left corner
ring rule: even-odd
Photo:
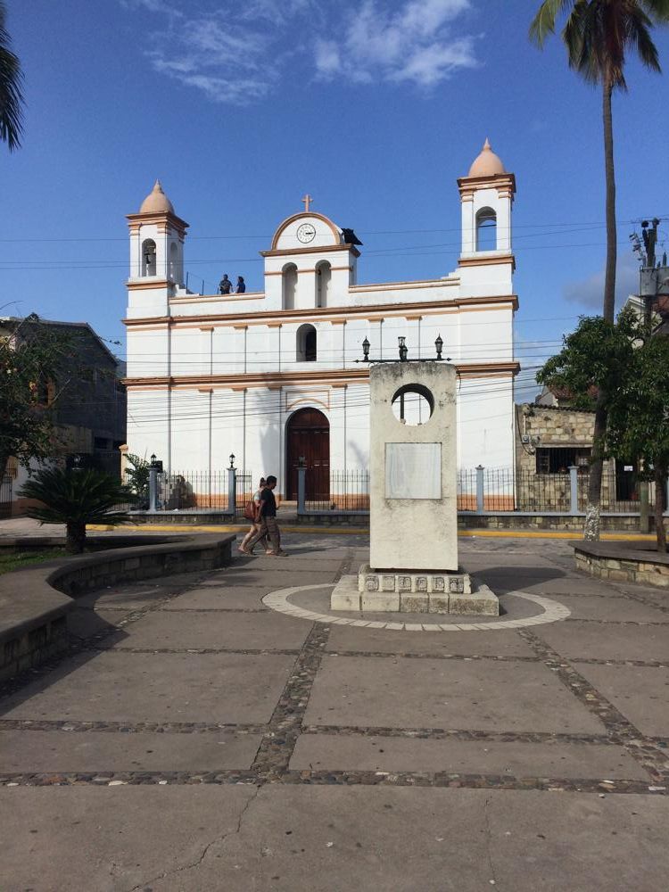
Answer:
[[[287,498],[297,500],[297,468],[300,458],[307,467],[306,498],[330,498],[330,422],[318,409],[298,409],[286,425]]]

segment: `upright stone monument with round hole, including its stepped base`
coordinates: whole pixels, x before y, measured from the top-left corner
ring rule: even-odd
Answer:
[[[458,564],[456,382],[443,360],[370,367],[369,566],[335,586],[333,610],[499,615]]]

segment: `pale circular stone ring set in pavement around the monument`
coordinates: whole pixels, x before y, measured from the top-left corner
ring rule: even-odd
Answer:
[[[335,583],[319,583],[317,585],[296,585],[290,589],[277,589],[270,591],[268,595],[262,599],[262,603],[271,610],[278,613],[284,613],[288,616],[294,616],[297,619],[307,619],[311,623],[331,623],[334,625],[352,625],[366,629],[390,629],[392,632],[496,632],[498,629],[523,629],[528,625],[542,625],[544,623],[556,623],[559,620],[566,619],[571,611],[558,601],[549,598],[543,598],[541,595],[531,595],[526,591],[508,591],[508,595],[514,598],[523,598],[532,601],[541,607],[541,614],[527,616],[524,619],[496,619],[490,618],[487,623],[402,623],[395,617],[401,617],[401,614],[389,614],[392,619],[387,622],[379,620],[352,619],[350,616],[343,616],[339,611],[336,613],[316,613],[313,610],[307,610],[304,607],[297,607],[289,600],[294,595],[300,595],[302,592],[316,591],[317,589],[332,589]],[[352,612],[352,611],[351,611]],[[378,614],[376,614],[378,615]],[[439,614],[425,614],[425,616],[436,617]],[[448,614],[444,614],[446,616]],[[453,614],[450,614],[454,616]]]

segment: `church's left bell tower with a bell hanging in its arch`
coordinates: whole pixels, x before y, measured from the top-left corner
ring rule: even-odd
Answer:
[[[128,214],[128,316],[162,316],[169,296],[183,286],[188,224],[174,211],[159,180],[136,214]]]

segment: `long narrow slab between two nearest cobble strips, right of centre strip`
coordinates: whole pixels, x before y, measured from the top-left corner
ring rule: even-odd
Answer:
[[[594,743],[302,734],[290,767],[314,771],[458,772],[516,778],[648,780],[623,747]]]

